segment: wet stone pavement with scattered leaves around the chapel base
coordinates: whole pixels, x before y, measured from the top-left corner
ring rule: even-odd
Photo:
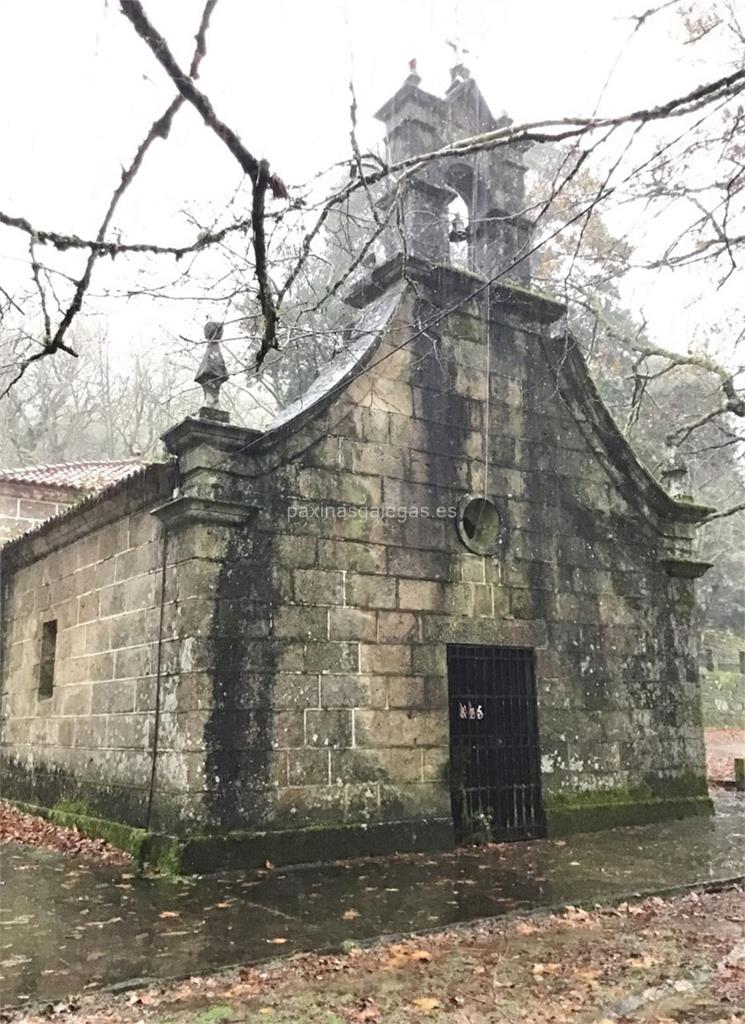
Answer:
[[[714,818],[437,855],[135,878],[0,847],[0,1004],[57,1000],[377,935],[745,874],[745,797]]]

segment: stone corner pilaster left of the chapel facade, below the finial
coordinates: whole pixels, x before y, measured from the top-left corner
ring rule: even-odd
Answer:
[[[249,551],[244,527],[256,512],[246,495],[238,496],[231,466],[259,436],[212,416],[189,417],[164,435],[178,460],[179,482],[173,497],[151,510],[165,527],[167,545],[156,828],[210,823],[205,793],[217,780],[210,778],[209,723],[219,699],[215,679],[225,647],[215,625],[221,581],[235,552]],[[184,813],[175,826],[169,809],[178,790]]]

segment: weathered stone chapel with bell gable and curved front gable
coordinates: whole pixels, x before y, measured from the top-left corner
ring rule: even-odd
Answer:
[[[462,66],[378,117],[392,161],[510,123]],[[301,400],[230,423],[212,331],[169,461],[2,549],[0,795],[193,871],[710,812],[709,510],[531,290],[521,146],[461,148]]]

